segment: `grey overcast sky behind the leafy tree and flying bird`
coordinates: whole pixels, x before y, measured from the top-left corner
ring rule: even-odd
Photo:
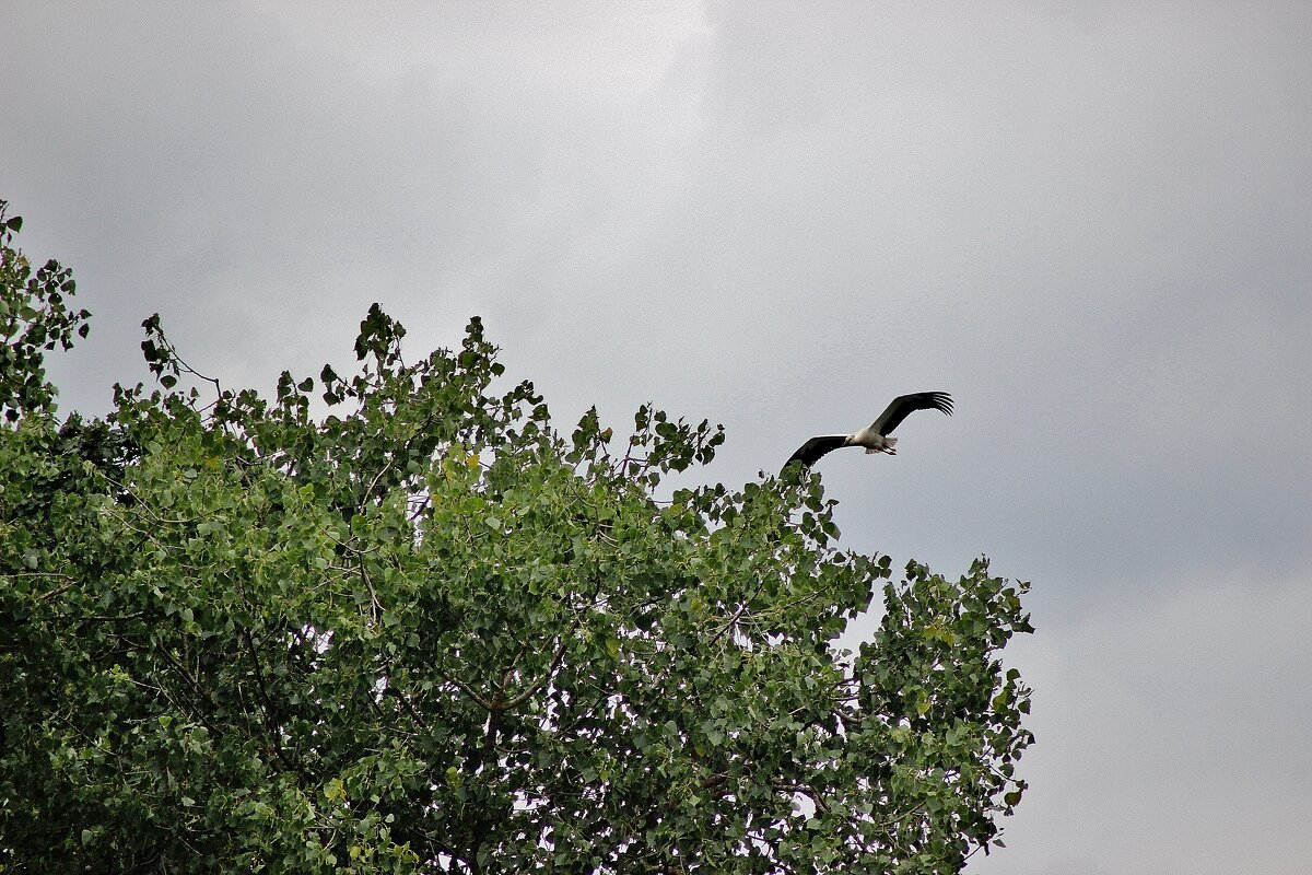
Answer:
[[[1312,867],[1312,4],[0,1],[0,197],[96,314],[270,388],[484,317],[842,546],[1034,581],[1033,787],[974,874]],[[869,631],[869,626],[866,627]],[[857,630],[859,634],[861,630]]]

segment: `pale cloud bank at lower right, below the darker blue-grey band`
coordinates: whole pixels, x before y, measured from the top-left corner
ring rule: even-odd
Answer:
[[[1006,834],[1027,850],[972,871],[1299,871],[1309,580],[1190,575],[1039,622],[1012,656],[1035,687],[1033,788]]]

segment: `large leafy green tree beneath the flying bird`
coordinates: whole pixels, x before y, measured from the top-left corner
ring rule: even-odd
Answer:
[[[375,304],[356,375],[272,399],[151,317],[160,386],[60,422],[41,356],[87,315],[4,228],[0,867],[943,872],[1001,844],[1025,584],[895,582],[834,547],[816,475],[657,500],[723,432],[646,405],[565,436],[492,391],[476,317],[407,363]]]

